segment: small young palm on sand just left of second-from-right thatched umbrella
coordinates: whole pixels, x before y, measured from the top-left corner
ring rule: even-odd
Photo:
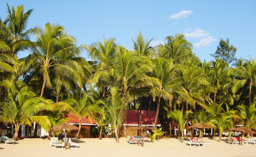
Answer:
[[[185,122],[188,117],[188,114],[191,114],[191,111],[185,111],[184,113],[181,110],[174,110],[167,112],[168,118],[173,118],[178,123],[178,128],[181,130],[181,142],[184,143],[184,128]]]

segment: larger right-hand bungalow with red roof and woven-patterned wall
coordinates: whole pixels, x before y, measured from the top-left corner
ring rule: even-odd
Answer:
[[[153,127],[156,118],[156,111],[141,111],[141,126]],[[122,127],[122,136],[137,135],[137,130],[132,130],[139,126],[140,111],[139,110],[127,110],[126,119]],[[160,127],[161,123],[157,118],[156,126]]]

